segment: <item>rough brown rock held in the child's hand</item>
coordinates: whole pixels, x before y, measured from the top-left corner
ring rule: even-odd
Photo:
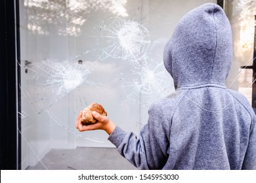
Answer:
[[[98,120],[96,120],[91,114],[91,112],[93,111],[96,111],[103,116],[107,116],[107,113],[102,107],[102,105],[98,103],[92,103],[91,105],[83,109],[83,114],[81,117],[81,123],[83,125],[91,125],[91,124],[96,124],[96,122],[98,122]]]

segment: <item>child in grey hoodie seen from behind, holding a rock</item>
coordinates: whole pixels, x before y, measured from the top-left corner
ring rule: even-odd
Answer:
[[[232,60],[230,23],[206,3],[185,14],[165,45],[163,61],[176,91],[151,105],[139,137],[107,116],[79,131],[103,129],[138,169],[256,169],[256,116],[225,85]]]

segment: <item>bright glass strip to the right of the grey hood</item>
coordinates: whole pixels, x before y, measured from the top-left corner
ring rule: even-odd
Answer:
[[[234,51],[227,86],[244,94],[252,104],[252,88],[255,78],[253,78],[251,66],[255,60],[253,50],[255,50],[256,1],[227,0],[224,10],[232,27]]]

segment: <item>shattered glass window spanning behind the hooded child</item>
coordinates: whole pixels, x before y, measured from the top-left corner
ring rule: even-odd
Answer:
[[[139,133],[150,105],[175,91],[163,66],[165,42],[186,12],[208,2],[217,3],[21,0],[22,169],[89,169],[82,164],[92,152],[112,164],[95,159],[92,169],[132,168],[119,167],[123,161],[104,131],[77,131],[76,118],[96,102],[116,125]],[[227,86],[250,102],[255,78],[245,67],[253,65],[255,7],[255,1],[224,3],[234,41]]]

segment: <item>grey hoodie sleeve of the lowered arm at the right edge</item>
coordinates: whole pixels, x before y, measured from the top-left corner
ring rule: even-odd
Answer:
[[[249,134],[249,142],[245,153],[242,169],[255,170],[256,169],[256,116],[253,115],[253,122],[251,123],[251,130]]]

